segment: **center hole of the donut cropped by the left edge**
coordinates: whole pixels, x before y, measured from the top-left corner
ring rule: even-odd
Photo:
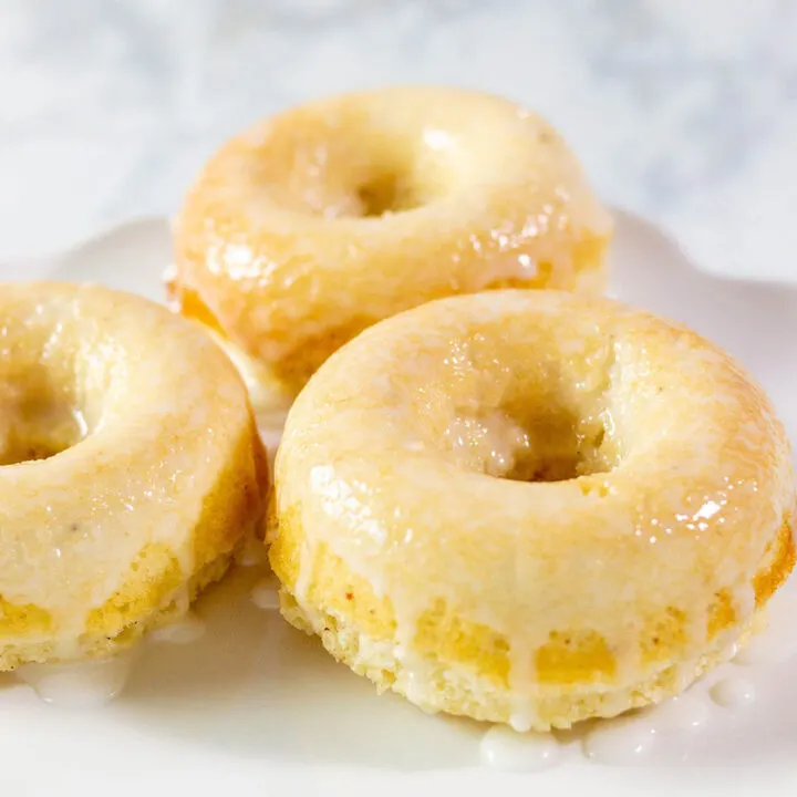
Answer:
[[[49,459],[87,433],[70,386],[43,366],[0,375],[0,466]]]

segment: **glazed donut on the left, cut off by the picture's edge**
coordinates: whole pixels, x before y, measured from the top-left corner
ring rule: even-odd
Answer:
[[[0,670],[178,618],[262,532],[266,468],[200,325],[96,286],[0,283]]]

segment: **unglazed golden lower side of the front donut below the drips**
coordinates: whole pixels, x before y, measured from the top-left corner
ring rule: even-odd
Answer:
[[[296,589],[304,535],[291,528],[290,514],[281,522],[272,516],[270,561],[281,582],[280,611],[284,619],[317,635],[337,661],[368,677],[380,693],[401,694],[428,713],[546,732],[660,703],[726,662],[738,646],[766,628],[766,601],[795,565],[793,527],[794,516],[785,518],[756,571],[758,609],[751,618],[738,621],[727,596],[717,594],[707,621],[708,642],[696,659],[681,661],[686,619],[664,611],[639,640],[640,646],[664,666],[613,687],[604,677],[613,674],[613,661],[600,640],[587,632],[580,640],[568,640],[567,645],[555,641],[541,656],[538,654],[538,662],[544,662],[538,677],[550,683],[542,683],[532,698],[511,690],[510,641],[488,627],[463,621],[441,604],[425,613],[418,624],[414,643],[426,652],[420,660],[416,654],[412,670],[406,671],[390,599],[380,599],[366,580],[325,546],[315,547],[312,575],[306,577],[308,591],[300,604]],[[667,663],[673,661],[681,663]]]

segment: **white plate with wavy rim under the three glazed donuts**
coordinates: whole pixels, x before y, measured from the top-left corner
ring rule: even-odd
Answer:
[[[794,439],[797,288],[705,276],[655,229],[618,217],[612,292],[690,323],[739,356]],[[58,257],[0,266],[0,278],[91,280],[161,299],[169,257],[167,222],[145,219]],[[0,508],[0,522],[1,516]],[[314,640],[258,609],[249,600],[258,578],[257,568],[242,570],[200,601],[207,631],[199,640],[146,644],[127,690],[110,705],[51,706],[15,679],[0,681],[0,785],[35,795],[795,791],[797,679],[788,662],[726,664],[696,686],[707,702],[714,681],[743,672],[757,698],[744,708],[712,706],[706,727],[674,759],[654,753],[639,766],[599,765],[573,738],[558,766],[507,773],[480,763],[485,728],[376,696]],[[770,639],[795,633],[785,614]]]

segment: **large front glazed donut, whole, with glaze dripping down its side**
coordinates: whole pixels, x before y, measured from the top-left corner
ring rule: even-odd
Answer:
[[[569,727],[727,660],[795,562],[784,427],[693,331],[506,290],[383,321],[277,455],[293,625],[428,712]]]

